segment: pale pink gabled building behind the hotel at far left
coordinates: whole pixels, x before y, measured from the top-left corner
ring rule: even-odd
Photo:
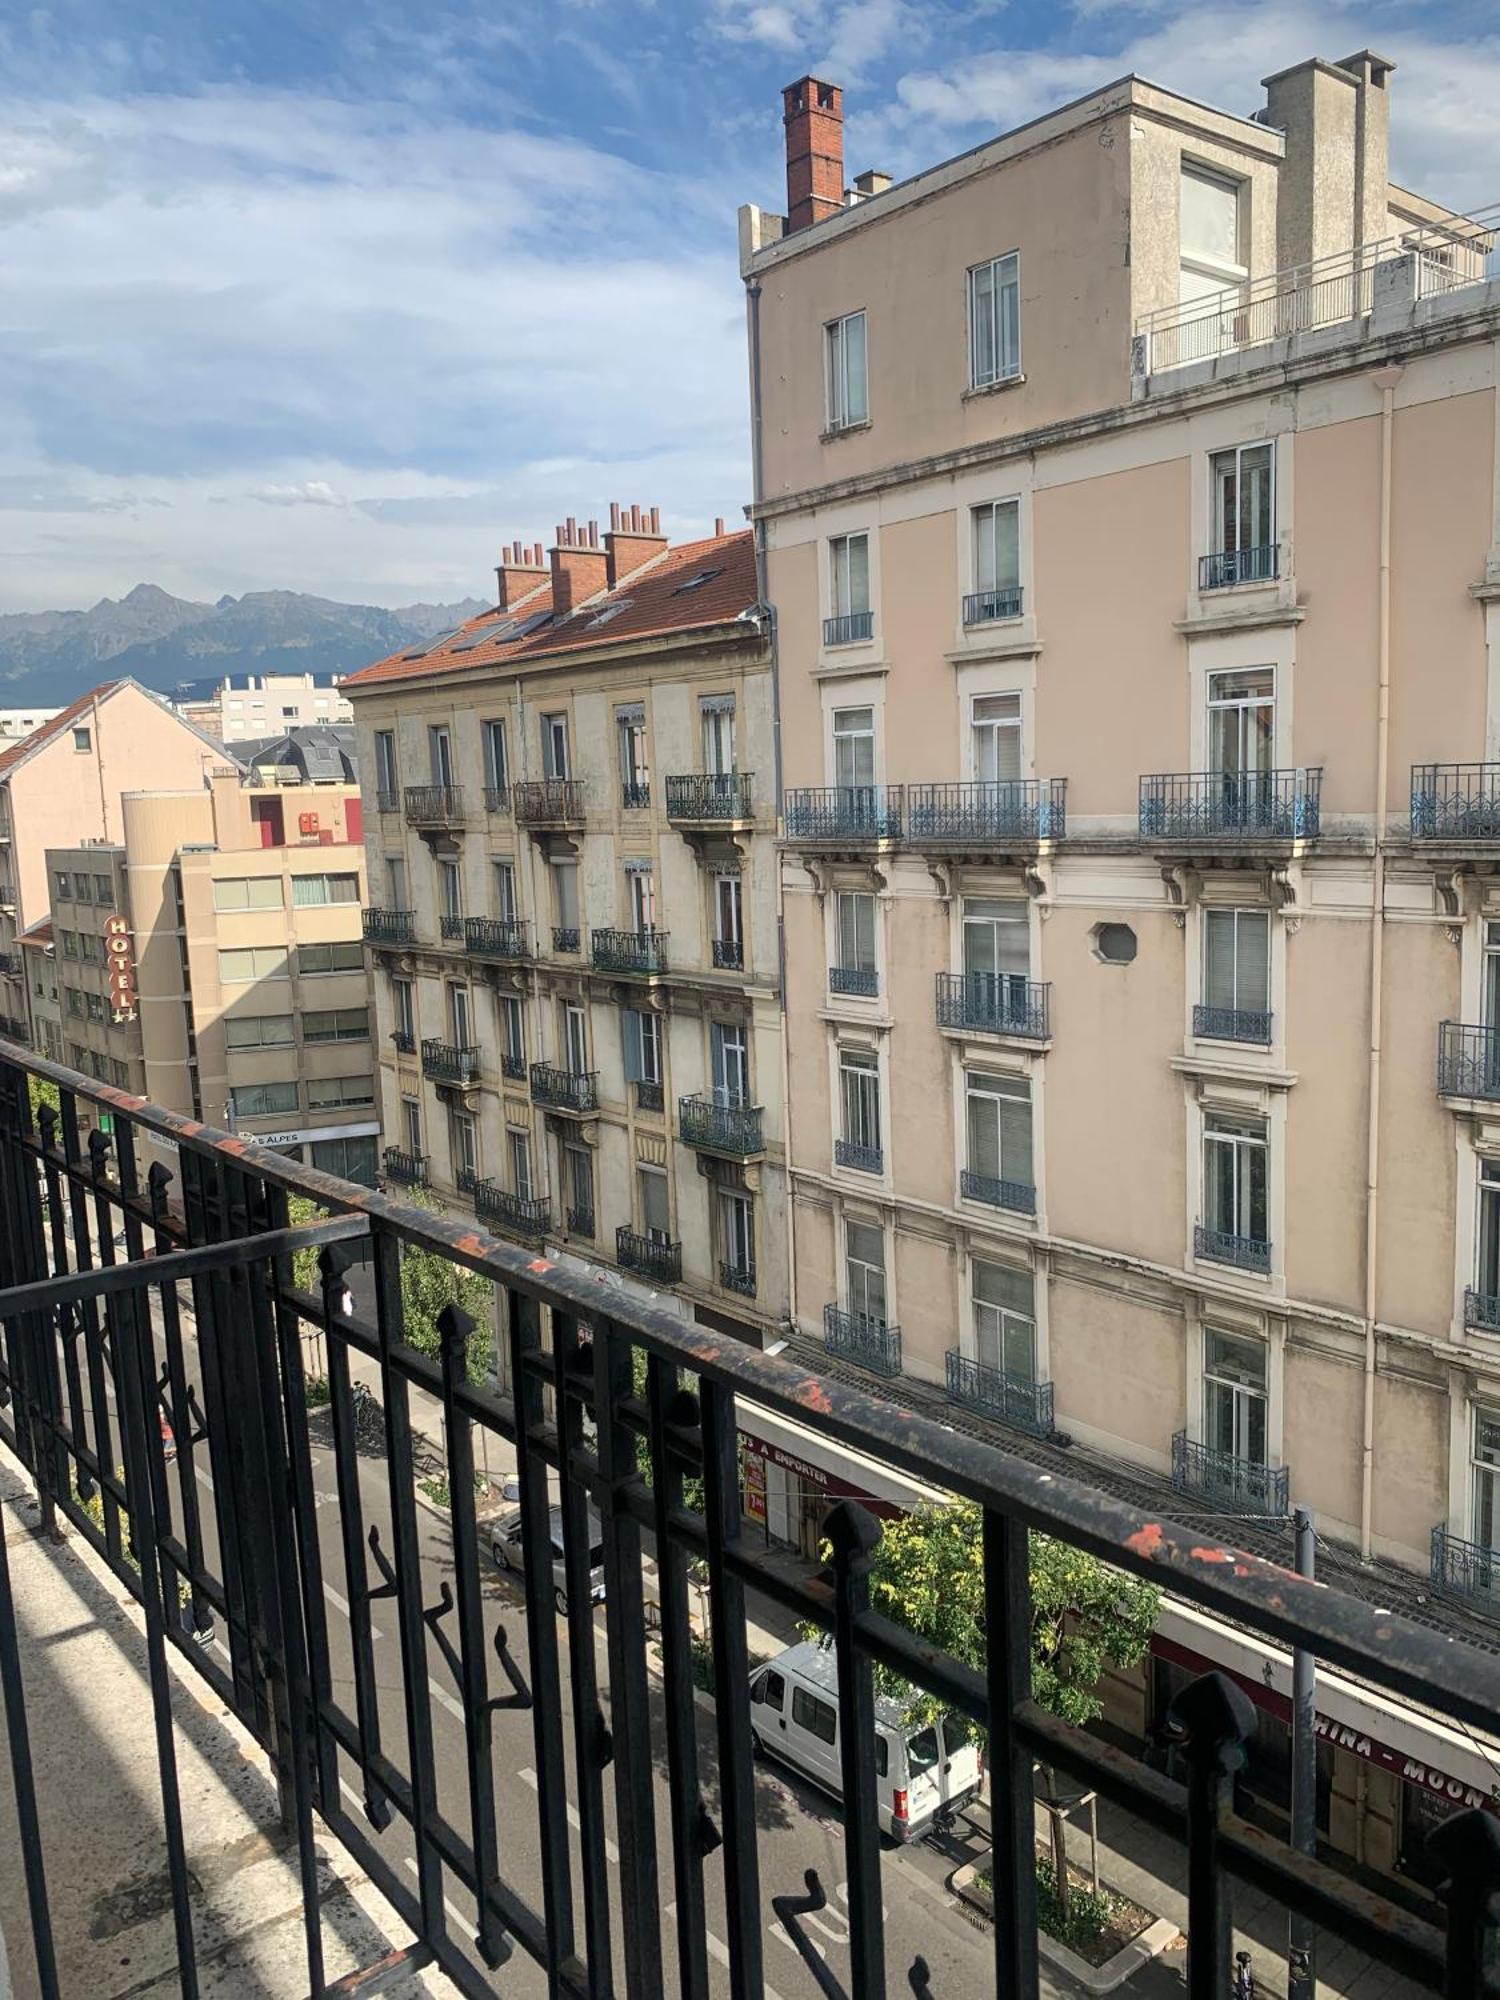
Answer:
[[[150,772],[202,786],[224,752],[150,688],[112,680],[0,750],[0,1032],[32,1034],[20,938],[50,910],[48,846],[120,838],[120,792]]]

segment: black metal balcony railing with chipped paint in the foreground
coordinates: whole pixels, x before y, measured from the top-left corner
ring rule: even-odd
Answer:
[[[30,1076],[60,1092],[62,1114],[34,1110]],[[102,1110],[114,1132],[94,1132],[80,1148],[80,1124]],[[148,1142],[170,1150],[172,1170],[144,1170]],[[316,1220],[288,1226],[294,1196]],[[718,1978],[710,1944],[726,1960],[724,1990],[760,1994],[772,1978],[790,1992],[796,1978],[798,1990],[816,1982],[830,1996],[866,2000],[882,1990],[888,1948],[868,1720],[876,1658],[938,1708],[968,1716],[988,1744],[994,1854],[986,1844],[984,1860],[996,1976],[976,1972],[962,1988],[976,2000],[1038,1986],[1038,1760],[1174,1844],[1172,1866],[1188,1882],[1194,1992],[1232,1990],[1232,1880],[1252,1882],[1272,1904],[1426,1992],[1476,2000],[1494,1992],[1500,1884],[1482,1794],[1472,1810],[1458,1800],[1434,1836],[1432,1878],[1454,1886],[1432,1906],[1432,1922],[1236,1816],[1226,1772],[1244,1758],[1254,1710],[1232,1680],[1202,1678],[1178,1696],[1166,1774],[1032,1700],[1028,1530],[1040,1530],[1146,1578],[1256,1648],[1300,1646],[1382,1700],[1436,1714],[1452,1732],[1494,1738],[1500,1688],[1490,1650],[1404,1618],[1384,1582],[1378,1596],[1352,1596],[1338,1572],[1314,1584],[1284,1564],[1236,1554],[1202,1520],[1228,1512],[1218,1494],[1204,1506],[1194,1492],[1186,1504],[1194,1526],[1176,1526],[1154,1506],[1090,1488],[1084,1460],[1064,1474],[960,1424],[910,1410],[892,1416],[884,1396],[852,1388],[838,1370],[810,1378],[790,1356],[688,1326],[624,1290],[604,1302],[590,1274],[538,1262],[532,1248],[486,1236],[468,1216],[404,1206],[150,1104],[122,1106],[118,1094],[18,1052],[0,1060],[0,1440],[12,1476],[34,1494],[38,1548],[64,1572],[78,1564],[72,1574],[86,1584],[78,1546],[88,1542],[140,1608],[128,1676],[140,1648],[142,1678],[150,1670],[160,1700],[156,1728],[146,1722],[136,1748],[148,1772],[142,1800],[160,1798],[170,1834],[160,1844],[160,1908],[174,1920],[184,1992],[202,1986],[204,1950],[218,1932],[204,1930],[202,1890],[176,1838],[178,1758],[214,1738],[204,1738],[196,1704],[166,1698],[172,1664],[248,1732],[280,1780],[302,1858],[302,1990],[328,1988],[336,1968],[326,1970],[324,1950],[342,1954],[348,1936],[334,1930],[320,1842],[386,1898],[394,1936],[372,1950],[406,1954],[414,1968],[432,1962],[470,2000],[528,1982],[570,2000],[622,1992],[620,1960],[644,1968],[632,1992],[660,1994],[668,1962],[674,1992],[706,1994]],[[76,1238],[54,1228],[80,1210],[90,1222],[98,1216],[98,1228]],[[90,1244],[116,1232],[122,1254],[98,1264]],[[506,1346],[498,1380],[470,1382],[476,1330],[454,1306],[440,1314],[436,1356],[398,1338],[408,1244],[494,1286]],[[324,1284],[310,1292],[292,1284],[298,1250],[324,1254]],[[346,1318],[336,1280],[352,1260],[368,1272],[368,1294]],[[188,1290],[192,1316],[182,1312]],[[316,1416],[304,1374],[312,1346],[298,1338],[300,1326],[318,1330],[326,1354],[328,1402]],[[862,1338],[848,1338],[850,1326]],[[882,1322],[834,1308],[826,1332],[840,1358],[856,1352],[882,1372],[900,1366],[900,1340]],[[352,1364],[378,1382],[374,1404],[356,1394]],[[430,1404],[438,1418],[424,1418]],[[830,1508],[826,1564],[798,1566],[762,1548],[742,1516],[736,1410],[746,1404],[792,1422],[816,1412],[828,1436],[858,1454],[854,1466],[862,1456],[888,1480],[918,1480],[974,1504],[988,1630],[978,1670],[968,1650],[960,1664],[872,1614],[870,1546],[882,1528],[858,1502]],[[430,1442],[420,1442],[418,1426]],[[442,1532],[416,1510],[418,1470],[432,1464],[418,1466],[418,1444],[436,1454],[450,1492]],[[518,1466],[524,1576],[506,1586],[504,1630],[490,1644],[496,1584],[482,1556],[474,1468],[496,1454]],[[644,1532],[658,1606],[650,1634]],[[690,1564],[706,1576],[720,1690],[712,1712],[694,1694]],[[1494,1576],[1494,1550],[1438,1530],[1436,1592],[1488,1610]],[[746,1618],[762,1594],[832,1630],[850,1798],[836,1860],[848,1882],[848,1960],[832,1952],[824,1960],[804,1934],[800,1912],[820,1908],[826,1890],[812,1876],[810,1902],[802,1896],[806,1856],[788,1852],[768,1824],[768,1794],[756,1784]],[[88,1756],[108,1754],[110,1744],[90,1740],[86,1716],[70,1710],[62,1720],[56,1704],[34,1698],[48,1668],[32,1626],[12,1594],[12,1566],[0,1562],[10,1840],[28,1888],[10,1928],[20,1934],[24,1908],[38,1992],[104,1992],[118,1982],[116,1936],[90,1942],[74,1926],[68,1970],[58,1966],[48,1882],[82,1864],[66,1822],[44,1810],[36,1772],[64,1752],[86,1770]],[[608,1738],[598,1726],[598,1636],[608,1638]],[[122,1710],[118,1724],[134,1714]],[[60,1728],[66,1740],[44,1736]],[[28,1734],[42,1750],[36,1760]],[[508,1776],[522,1764],[526,1784]],[[156,1828],[148,1838],[156,1848]],[[720,1884],[734,1910],[718,1926],[724,1942],[708,1930],[708,1894],[718,1898]],[[74,1890],[68,1882],[70,1908]],[[444,1910],[452,1898],[464,1902],[462,1924]],[[778,1952],[800,1954],[806,1974],[766,1964],[772,1898],[788,1940]],[[14,1962],[14,1936],[10,1948]],[[514,1966],[496,1978],[508,1958]],[[906,1958],[886,1984],[892,1994],[898,1984],[942,1990],[924,1962],[908,1974]]]

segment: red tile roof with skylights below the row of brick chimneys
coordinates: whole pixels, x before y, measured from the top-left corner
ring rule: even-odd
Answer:
[[[702,576],[702,582],[694,578]],[[692,586],[692,588],[688,588]],[[440,646],[408,658],[402,652],[376,660],[340,682],[368,688],[384,680],[416,680],[474,666],[544,664],[552,654],[584,646],[618,646],[622,640],[670,638],[702,626],[732,624],[758,600],[756,548],[748,528],[736,534],[682,542],[646,570],[626,576],[614,590],[590,598],[570,618],[552,622],[552,588],[540,588],[514,612],[484,612],[452,632]],[[534,620],[544,620],[534,624]],[[528,630],[528,626],[532,630]],[[482,634],[492,634],[474,644]]]

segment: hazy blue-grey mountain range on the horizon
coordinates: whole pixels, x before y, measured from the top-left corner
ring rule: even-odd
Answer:
[[[0,708],[60,708],[122,674],[158,694],[222,674],[352,674],[482,610],[482,598],[384,610],[300,590],[196,604],[136,584],[86,612],[0,614]]]

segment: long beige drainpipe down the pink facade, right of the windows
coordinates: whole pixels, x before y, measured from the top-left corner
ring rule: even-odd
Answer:
[[[1370,386],[1380,394],[1380,624],[1376,692],[1376,794],[1370,912],[1370,1124],[1364,1174],[1364,1424],[1360,1438],[1360,1558],[1372,1556],[1374,1514],[1374,1384],[1376,1288],[1380,1252],[1380,1036],[1386,960],[1386,784],[1390,776],[1390,448],[1396,428],[1400,368],[1380,368]]]

